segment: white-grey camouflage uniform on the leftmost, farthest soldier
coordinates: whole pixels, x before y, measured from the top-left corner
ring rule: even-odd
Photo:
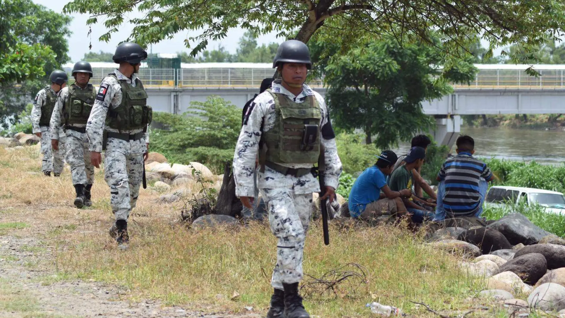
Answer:
[[[44,120],[41,120],[41,108],[45,105],[46,102],[49,102],[50,97],[48,95],[53,97],[56,96],[57,93],[55,93],[55,91],[53,91],[53,89],[51,89],[50,87],[45,87],[37,93],[35,100],[33,101],[32,127],[33,134],[41,132],[41,153],[43,154],[41,170],[44,173],[53,171],[54,175],[59,175],[63,172],[65,154],[64,143],[66,141],[66,135],[62,129],[59,130],[59,150],[53,152],[53,149],[51,148],[51,131],[49,128],[51,114],[43,114]]]

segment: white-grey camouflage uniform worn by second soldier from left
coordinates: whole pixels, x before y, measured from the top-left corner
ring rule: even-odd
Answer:
[[[90,89],[92,85],[87,86]],[[77,88],[81,89],[77,86]],[[96,88],[94,88],[95,90]],[[55,108],[53,109],[53,115],[51,115],[51,139],[59,140],[59,131],[64,130],[67,138],[66,144],[62,144],[64,141],[59,141],[59,148],[64,147],[67,149],[67,163],[71,167],[71,178],[73,184],[93,184],[94,183],[94,166],[90,161],[90,151],[88,149],[88,136],[86,132],[77,131],[81,128],[85,128],[86,124],[74,123],[69,124],[69,127],[65,129],[64,125],[64,105],[70,98],[69,87],[63,88],[57,102],[55,103]],[[72,128],[78,128],[73,130]]]

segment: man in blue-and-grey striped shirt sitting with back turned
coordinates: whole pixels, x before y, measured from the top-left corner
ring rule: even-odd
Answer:
[[[486,164],[473,158],[475,140],[459,136],[456,144],[457,156],[447,159],[437,175],[440,185],[433,221],[443,221],[446,216],[479,217],[483,213],[487,183],[493,180]]]

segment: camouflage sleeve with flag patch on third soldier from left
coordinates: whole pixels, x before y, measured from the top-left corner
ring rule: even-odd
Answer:
[[[88,135],[88,139],[90,140],[89,150],[92,152],[102,152],[102,138],[106,114],[108,113],[108,108],[111,107],[112,101],[114,101],[116,84],[119,89],[120,84],[118,80],[106,76],[106,78],[102,80],[102,83],[100,83],[100,88],[98,88],[96,100],[94,101],[88,122],[86,123],[86,135]]]

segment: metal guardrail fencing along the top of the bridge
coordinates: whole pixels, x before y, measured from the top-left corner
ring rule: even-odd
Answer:
[[[114,68],[93,68],[91,83],[98,85]],[[529,76],[524,70],[480,70],[470,85],[457,89],[565,89],[565,70],[537,70]],[[147,88],[250,88],[259,89],[272,68],[140,68],[138,76]],[[313,88],[323,87],[320,79],[310,80]]]

